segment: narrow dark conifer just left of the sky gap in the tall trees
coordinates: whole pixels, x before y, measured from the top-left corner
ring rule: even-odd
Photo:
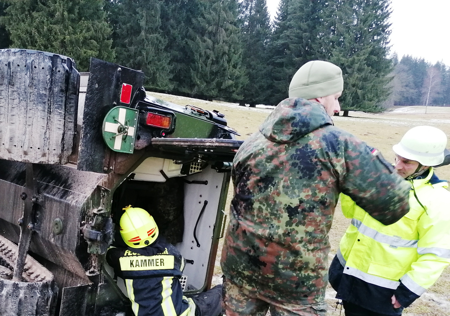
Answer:
[[[243,66],[248,83],[243,87],[241,105],[254,107],[269,97],[270,66],[267,43],[270,18],[266,0],[243,0],[241,4],[241,32],[243,38]]]

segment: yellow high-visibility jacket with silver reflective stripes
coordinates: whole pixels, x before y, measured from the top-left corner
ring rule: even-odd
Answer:
[[[433,173],[411,181],[410,212],[388,226],[341,195],[352,218],[337,253],[344,274],[387,289],[402,284],[417,297],[437,280],[450,263],[450,192],[447,182],[430,182]]]

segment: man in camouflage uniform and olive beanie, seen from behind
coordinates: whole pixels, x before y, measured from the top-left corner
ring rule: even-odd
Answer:
[[[408,212],[408,183],[376,149],[333,125],[342,90],[339,67],[307,62],[289,98],[239,148],[222,251],[227,315],[325,315],[340,192],[386,225]]]

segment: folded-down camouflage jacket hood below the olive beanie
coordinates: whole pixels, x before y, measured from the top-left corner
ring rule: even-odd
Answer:
[[[333,125],[322,104],[302,98],[281,101],[259,127],[272,142],[295,142],[324,125]]]

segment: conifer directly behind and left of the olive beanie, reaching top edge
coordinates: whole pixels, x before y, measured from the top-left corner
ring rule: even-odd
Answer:
[[[288,97],[295,72],[310,60],[325,59],[324,0],[281,0],[271,36],[271,104]],[[322,44],[324,43],[324,44]]]

